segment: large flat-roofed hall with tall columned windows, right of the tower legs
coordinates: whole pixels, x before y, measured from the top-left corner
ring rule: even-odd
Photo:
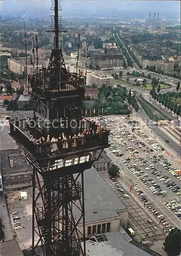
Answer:
[[[127,227],[127,207],[120,201],[94,167],[85,170],[84,187],[86,237],[115,232],[119,230],[120,226]],[[76,212],[75,208],[75,217]],[[78,228],[82,232],[83,225],[80,223]]]

